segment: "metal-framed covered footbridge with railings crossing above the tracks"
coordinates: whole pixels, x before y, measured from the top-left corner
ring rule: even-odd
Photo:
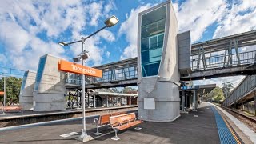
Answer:
[[[256,30],[234,34],[191,46],[191,73],[181,80],[198,80],[241,74],[256,70]],[[255,46],[255,48],[251,47]],[[252,49],[247,51],[246,49]],[[94,68],[103,71],[102,78],[88,77],[86,88],[137,85],[137,58],[108,63]],[[66,86],[80,86],[79,78],[66,78]]]

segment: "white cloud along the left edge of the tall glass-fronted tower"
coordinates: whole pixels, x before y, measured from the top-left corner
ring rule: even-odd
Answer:
[[[124,49],[120,59],[132,58],[137,56],[137,39],[138,39],[138,13],[150,8],[150,4],[139,6],[137,9],[130,10],[130,15],[126,14],[126,21],[122,22],[119,35],[125,34],[129,46]]]

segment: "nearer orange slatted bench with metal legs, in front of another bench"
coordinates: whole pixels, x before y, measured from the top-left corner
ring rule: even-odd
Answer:
[[[138,124],[142,123],[142,120],[137,120],[135,113],[122,114],[110,117],[110,126],[114,129],[115,136],[111,139],[118,140],[118,130],[125,130],[132,126],[137,126],[135,130],[141,130]]]

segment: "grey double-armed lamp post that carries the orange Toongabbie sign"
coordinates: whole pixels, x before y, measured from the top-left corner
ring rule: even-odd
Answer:
[[[101,29],[95,31],[93,34],[90,34],[86,38],[81,38],[81,40],[74,41],[74,42],[68,42],[68,43],[67,42],[58,42],[58,44],[61,46],[69,46],[70,44],[73,44],[73,43],[82,42],[82,53],[79,54],[77,58],[73,58],[73,60],[74,60],[74,62],[78,62],[80,59],[82,59],[82,66],[83,66],[83,63],[84,63],[83,61],[90,57],[90,55],[88,53],[89,51],[86,51],[83,49],[83,45],[84,45],[86,39],[90,38],[94,34],[97,34],[99,31],[105,29],[106,27],[114,26],[118,22],[119,22],[118,18],[116,18],[113,15],[110,18],[106,19],[106,21],[104,22],[105,26],[103,26]],[[85,75],[82,74],[82,126],[83,127],[82,127],[82,134],[79,137],[79,138],[82,138],[82,142],[90,141],[90,139],[91,139],[90,135],[87,135],[87,132],[86,132],[86,102],[85,102],[86,90],[85,89],[86,89]]]

